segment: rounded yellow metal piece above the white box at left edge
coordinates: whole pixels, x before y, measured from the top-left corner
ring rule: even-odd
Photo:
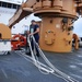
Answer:
[[[1,39],[11,38],[11,30],[7,25],[1,23],[0,23],[0,34],[1,34]]]

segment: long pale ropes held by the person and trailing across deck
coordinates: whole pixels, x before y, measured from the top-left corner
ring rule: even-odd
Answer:
[[[39,48],[38,44],[35,42],[34,36],[32,35],[31,37],[32,37],[32,39],[33,39],[33,42],[34,42],[34,44],[35,44],[35,46],[36,46],[36,48],[38,49],[39,55],[42,56],[42,58],[45,60],[45,62],[46,62],[47,65],[45,65],[45,63],[38,61],[38,59],[35,57],[35,55],[34,55],[34,52],[33,52],[33,50],[32,50],[30,36],[27,37],[27,42],[28,42],[28,44],[30,44],[30,49],[31,49],[32,57],[28,57],[28,56],[26,56],[25,54],[21,52],[22,56],[23,56],[25,59],[26,59],[26,58],[30,58],[30,59],[32,60],[31,62],[34,63],[34,65],[38,68],[38,70],[39,70],[42,73],[44,73],[44,74],[49,74],[49,73],[51,73],[51,74],[54,74],[54,75],[56,75],[56,77],[58,77],[58,78],[63,79],[66,82],[79,82],[78,80],[75,80],[75,79],[69,77],[68,74],[61,72],[60,70],[58,70],[58,69],[47,59],[47,57],[44,55],[44,52],[43,52],[42,49]]]

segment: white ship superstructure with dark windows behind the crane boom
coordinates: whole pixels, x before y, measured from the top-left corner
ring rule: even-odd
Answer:
[[[8,25],[9,20],[13,16],[21,3],[22,1],[20,0],[0,0],[0,23]],[[12,34],[24,33],[26,30],[24,25],[27,25],[25,17],[12,27]]]

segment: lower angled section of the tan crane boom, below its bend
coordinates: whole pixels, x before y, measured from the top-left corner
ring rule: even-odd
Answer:
[[[20,8],[19,11],[9,20],[9,27],[19,23],[23,17],[30,15],[33,12],[31,8]]]

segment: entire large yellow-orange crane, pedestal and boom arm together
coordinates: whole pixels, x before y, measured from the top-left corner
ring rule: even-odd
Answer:
[[[72,23],[82,14],[82,0],[26,0],[9,21],[9,27],[34,13],[42,17],[39,46],[43,50],[70,52]]]

